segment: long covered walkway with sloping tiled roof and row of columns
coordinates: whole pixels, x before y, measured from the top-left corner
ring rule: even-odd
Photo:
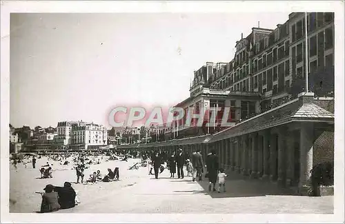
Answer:
[[[334,115],[328,111],[329,108],[325,110],[324,105],[324,102],[314,98],[313,93],[304,92],[293,101],[212,136],[136,147],[165,150],[168,154],[179,147],[188,154],[198,148],[204,159],[210,150],[215,150],[220,166],[226,170],[251,179],[270,180],[279,187],[306,194],[315,141],[324,132],[334,132]]]

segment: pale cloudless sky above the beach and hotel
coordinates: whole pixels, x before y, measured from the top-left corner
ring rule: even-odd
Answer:
[[[228,62],[251,28],[288,12],[12,13],[10,123],[108,124],[116,106],[168,107],[188,98],[194,71]]]

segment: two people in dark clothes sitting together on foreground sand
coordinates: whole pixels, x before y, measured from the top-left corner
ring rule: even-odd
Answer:
[[[40,213],[72,208],[79,203],[77,192],[69,182],[65,182],[63,187],[48,184],[43,190],[44,193],[37,192],[42,196]]]

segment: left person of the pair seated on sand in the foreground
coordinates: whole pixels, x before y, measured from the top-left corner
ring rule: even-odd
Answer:
[[[53,192],[54,186],[48,184],[43,190],[46,193],[42,195],[41,212],[55,212],[59,210],[58,194],[57,192]]]

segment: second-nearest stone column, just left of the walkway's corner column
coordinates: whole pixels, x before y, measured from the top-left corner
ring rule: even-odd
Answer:
[[[295,139],[292,134],[286,140],[286,186],[290,187],[295,181]]]

